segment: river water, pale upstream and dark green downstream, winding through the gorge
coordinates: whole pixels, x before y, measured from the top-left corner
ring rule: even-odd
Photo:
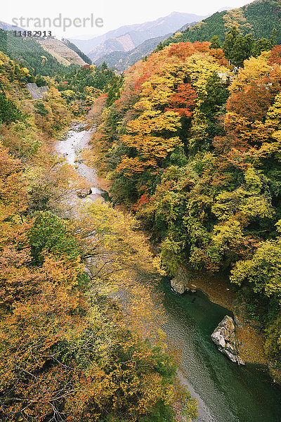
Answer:
[[[106,196],[96,171],[77,162],[90,139],[91,132],[77,125],[55,146],[56,152],[77,165],[77,172],[91,184],[92,194],[81,199],[82,203]],[[181,349],[183,383],[198,400],[196,422],[281,422],[280,388],[261,368],[230,362],[211,342],[214,328],[223,316],[232,313],[210,302],[200,291],[177,295],[166,279],[155,288],[164,293],[167,321],[163,329],[169,341]]]

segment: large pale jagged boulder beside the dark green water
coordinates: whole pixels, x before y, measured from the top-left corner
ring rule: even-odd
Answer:
[[[235,324],[231,316],[226,315],[218,324],[211,340],[218,346],[218,350],[233,362],[244,365],[244,361],[239,356],[239,342],[235,333]]]

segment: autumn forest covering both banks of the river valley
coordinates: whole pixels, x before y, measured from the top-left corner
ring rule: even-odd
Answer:
[[[136,276],[183,266],[230,282],[281,384],[280,9],[265,34],[263,3],[174,34],[122,75],[65,68],[0,30],[1,421],[194,420],[161,297]],[[110,202],[71,218],[85,181],[53,147],[85,120]]]

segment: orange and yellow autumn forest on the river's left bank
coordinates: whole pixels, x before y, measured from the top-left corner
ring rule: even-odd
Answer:
[[[53,145],[85,119],[90,106],[73,107],[80,95],[105,98],[115,75],[103,66],[51,77],[24,64],[0,52],[1,421],[191,421],[197,404],[159,329],[161,305],[131,279],[159,276],[136,218],[100,203],[67,217],[85,182]],[[48,84],[44,100],[30,100],[34,80]],[[126,313],[118,286],[131,295]]]

